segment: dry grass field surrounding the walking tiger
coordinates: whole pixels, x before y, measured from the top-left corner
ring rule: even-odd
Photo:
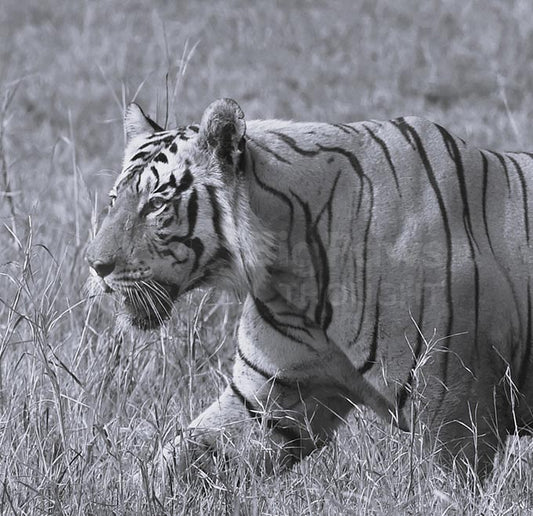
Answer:
[[[3,0],[0,9],[0,514],[531,514],[533,445],[484,485],[357,412],[289,473],[133,480],[225,385],[239,305],[182,300],[158,333],[88,299],[86,242],[120,168],[122,111],[198,121],[417,114],[482,147],[533,150],[529,0]],[[157,460],[157,459],[156,459]]]

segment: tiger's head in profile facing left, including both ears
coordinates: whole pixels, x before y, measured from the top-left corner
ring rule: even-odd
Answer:
[[[124,119],[123,169],[87,259],[129,321],[158,327],[174,301],[216,279],[252,282],[268,253],[244,186],[244,115],[213,102],[199,126],[165,131],[136,104]]]

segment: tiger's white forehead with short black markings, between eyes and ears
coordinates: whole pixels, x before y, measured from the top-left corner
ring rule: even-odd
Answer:
[[[198,126],[190,125],[172,131],[154,133],[138,138],[128,148],[122,172],[118,176],[111,195],[117,195],[127,187],[141,190],[157,190],[160,185],[172,183],[178,169],[190,165],[191,142],[198,134]]]

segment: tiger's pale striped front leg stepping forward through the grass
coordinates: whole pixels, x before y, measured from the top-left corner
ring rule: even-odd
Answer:
[[[275,293],[248,296],[233,379],[220,398],[168,444],[170,474],[252,453],[259,471],[286,467],[328,441],[354,404],[407,429],[393,403],[326,333]],[[255,448],[255,449],[254,449]]]

